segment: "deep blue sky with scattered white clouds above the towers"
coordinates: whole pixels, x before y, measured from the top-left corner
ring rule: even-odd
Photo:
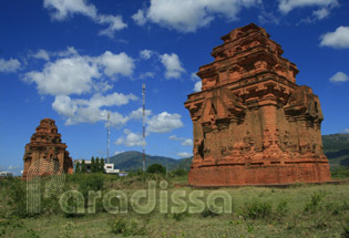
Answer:
[[[142,149],[192,154],[183,103],[219,38],[250,22],[319,95],[322,134],[349,132],[349,2],[345,0],[11,0],[0,2],[0,170],[22,169],[41,118],[55,120],[73,159]]]

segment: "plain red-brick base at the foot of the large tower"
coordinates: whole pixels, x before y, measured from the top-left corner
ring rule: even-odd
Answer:
[[[331,180],[327,162],[294,162],[270,165],[193,166],[188,183],[192,186],[273,185],[324,183]]]

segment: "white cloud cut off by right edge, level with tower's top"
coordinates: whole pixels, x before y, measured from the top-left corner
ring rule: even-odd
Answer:
[[[349,27],[339,27],[335,32],[327,32],[321,38],[320,45],[337,49],[349,48]]]

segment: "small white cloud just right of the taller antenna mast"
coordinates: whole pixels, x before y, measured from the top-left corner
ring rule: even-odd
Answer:
[[[168,133],[172,130],[183,126],[179,114],[171,114],[167,112],[163,112],[158,115],[152,116],[150,120],[146,121],[146,123],[147,132],[155,133]]]

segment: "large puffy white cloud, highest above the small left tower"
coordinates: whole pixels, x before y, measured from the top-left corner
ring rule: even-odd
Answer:
[[[100,56],[80,55],[73,48],[54,55],[70,55],[47,62],[42,71],[31,71],[25,80],[35,83],[40,94],[71,95],[89,93],[93,89],[111,89],[103,77],[130,76],[134,60],[125,53],[113,54],[106,51]]]

